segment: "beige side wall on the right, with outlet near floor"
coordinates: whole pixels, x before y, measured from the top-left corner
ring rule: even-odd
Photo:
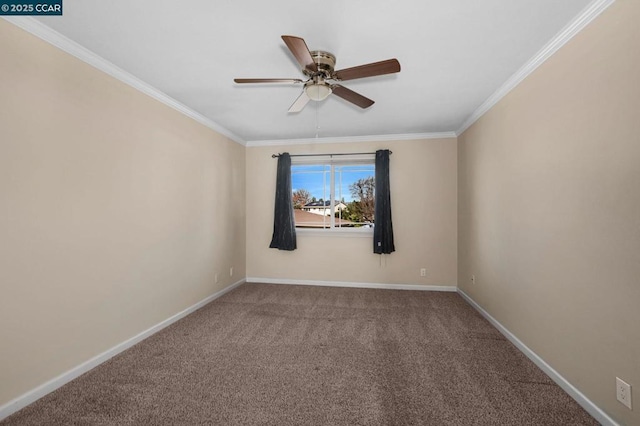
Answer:
[[[639,22],[640,2],[614,3],[458,152],[460,288],[629,425],[640,424]],[[633,412],[616,376],[635,388]]]

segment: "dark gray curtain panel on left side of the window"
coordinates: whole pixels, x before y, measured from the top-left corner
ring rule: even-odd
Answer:
[[[269,248],[289,251],[296,249],[296,224],[291,196],[291,156],[285,152],[278,157],[273,237]]]

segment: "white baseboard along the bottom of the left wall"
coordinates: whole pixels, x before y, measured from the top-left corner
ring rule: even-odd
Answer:
[[[135,345],[136,343],[146,339],[147,337],[151,336],[152,334],[157,333],[158,331],[162,330],[163,328],[173,324],[174,322],[186,317],[187,315],[189,315],[192,312],[195,312],[196,310],[200,309],[201,307],[203,307],[204,305],[214,301],[215,299],[219,298],[220,296],[222,296],[225,293],[228,293],[229,291],[233,290],[234,288],[238,287],[239,285],[243,284],[245,282],[244,279],[231,284],[229,287],[226,287],[216,293],[213,293],[212,295],[206,297],[205,299],[199,301],[198,303],[196,303],[195,305],[192,305],[190,307],[188,307],[187,309],[178,312],[177,314],[173,315],[170,318],[167,318],[166,320],[154,325],[153,327],[143,331],[142,333],[128,339],[125,340],[122,343],[117,344],[116,346],[112,347],[111,349],[101,353],[100,355],[97,355],[93,358],[91,358],[88,361],[83,362],[82,364],[72,368],[69,371],[66,371],[64,373],[62,373],[61,375],[59,375],[58,377],[55,377],[51,380],[49,380],[48,382],[38,386],[35,389],[30,390],[29,392],[20,395],[19,397],[9,401],[8,403],[4,404],[3,406],[0,406],[0,420],[9,417],[11,414],[15,413],[18,410],[21,410],[22,408],[26,407],[27,405],[37,401],[38,399],[42,398],[43,396],[47,395],[50,392],[53,392],[54,390],[58,389],[59,387],[69,383],[71,380],[75,379],[76,377],[86,373],[87,371],[97,367],[98,365],[102,364],[103,362],[107,361],[108,359],[114,357],[115,355],[118,355],[120,352],[123,352],[127,349],[129,349],[131,346]]]

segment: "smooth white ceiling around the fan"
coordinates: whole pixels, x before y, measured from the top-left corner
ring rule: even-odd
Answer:
[[[457,132],[592,0],[65,0],[38,20],[236,135],[239,142]],[[584,20],[584,19],[583,19]],[[344,82],[287,113],[304,78],[281,35],[337,56],[336,69],[397,58],[398,74]],[[319,127],[318,131],[316,127]]]

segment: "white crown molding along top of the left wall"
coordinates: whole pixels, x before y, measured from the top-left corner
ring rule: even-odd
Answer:
[[[147,96],[152,97],[153,99],[162,102],[163,104],[175,109],[176,111],[186,115],[187,117],[197,121],[198,123],[214,130],[215,132],[220,133],[221,135],[231,139],[234,142],[237,142],[241,145],[244,145],[244,140],[233,132],[225,129],[218,123],[208,119],[204,115],[192,110],[186,105],[176,101],[169,95],[155,87],[151,86],[148,83],[140,80],[139,78],[129,74],[122,68],[117,67],[113,63],[107,61],[103,57],[96,55],[89,49],[81,46],[75,41],[63,36],[59,32],[49,28],[44,25],[40,21],[24,16],[3,16],[4,20],[12,23],[13,25],[22,28],[23,30],[35,35],[36,37],[46,41],[47,43],[57,47],[60,50],[67,52],[68,54],[75,56],[83,62],[91,65],[94,68],[99,69],[100,71],[110,75],[111,77],[122,81],[125,84],[133,87],[139,92],[144,93]]]

